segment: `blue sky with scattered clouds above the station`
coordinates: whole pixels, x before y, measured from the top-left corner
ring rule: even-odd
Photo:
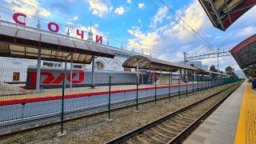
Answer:
[[[139,53],[171,62],[182,61],[184,51],[200,54],[211,50],[210,46],[230,49],[256,33],[256,6],[224,32],[214,28],[198,0],[162,1],[167,6],[161,0],[2,0],[0,6],[11,10],[0,8],[0,15],[12,22],[15,10],[29,15],[27,25],[36,26],[40,18],[44,28],[47,22],[57,22],[62,24],[63,34],[70,30],[74,37],[75,29],[88,31],[91,22],[92,32],[104,36],[104,42],[116,39],[110,39],[110,45],[126,50],[134,47]],[[172,11],[208,44],[194,36]],[[217,66],[217,58],[202,63]],[[232,56],[220,58],[220,70],[226,66],[239,69]]]

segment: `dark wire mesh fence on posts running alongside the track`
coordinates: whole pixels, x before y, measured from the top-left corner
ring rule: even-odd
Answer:
[[[0,69],[0,134],[7,134],[17,130],[24,130],[34,126],[42,126],[53,122],[77,118],[87,114],[109,111],[106,118],[111,119],[110,111],[138,104],[168,98],[182,94],[194,93],[198,90],[221,86],[236,82],[232,78],[189,78],[189,82],[182,81],[178,75],[156,75],[155,82],[147,83],[144,75],[124,76],[123,74],[106,73],[95,74],[95,79],[104,85],[70,87],[66,85],[67,74],[62,74],[61,86],[41,87],[40,93],[26,89],[26,70]],[[19,74],[18,74],[19,72]],[[86,75],[90,79],[90,74]],[[57,79],[57,78],[56,78]],[[55,80],[56,80],[55,79]],[[117,81],[127,83],[117,83]]]

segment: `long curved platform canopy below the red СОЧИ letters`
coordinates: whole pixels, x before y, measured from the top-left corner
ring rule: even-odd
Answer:
[[[3,21],[4,22],[4,21]],[[3,23],[0,21],[0,23]],[[19,26],[14,23],[0,25],[0,56],[41,59],[47,61],[90,64],[93,56],[114,58],[112,50],[102,44],[71,38],[62,34]],[[73,56],[71,56],[73,54]]]

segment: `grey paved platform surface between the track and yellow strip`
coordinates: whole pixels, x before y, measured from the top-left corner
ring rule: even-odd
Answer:
[[[242,83],[183,143],[234,143],[245,86]]]

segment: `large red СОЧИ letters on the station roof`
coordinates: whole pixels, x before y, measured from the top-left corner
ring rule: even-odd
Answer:
[[[26,26],[26,22],[20,21],[20,18],[22,18],[22,17],[26,18],[26,14],[22,14],[22,13],[14,13],[13,14],[14,22],[16,22],[16,23],[18,23],[22,26]],[[58,24],[56,22],[48,22],[47,28],[50,32],[55,33],[55,34],[58,34],[58,32],[60,30],[60,26],[58,26]],[[85,38],[85,31],[76,29],[76,35],[77,35],[77,38],[84,39]],[[102,36],[96,34],[95,35],[95,42],[102,43]]]

